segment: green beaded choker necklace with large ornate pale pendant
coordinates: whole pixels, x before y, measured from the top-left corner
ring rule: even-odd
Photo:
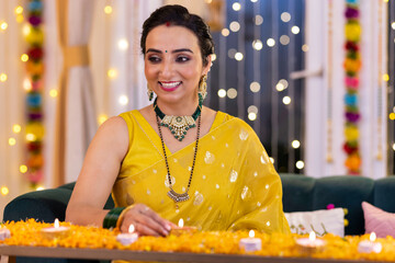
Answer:
[[[179,141],[182,141],[187,135],[187,132],[190,128],[196,127],[195,121],[202,113],[203,98],[199,94],[199,105],[196,111],[191,116],[166,115],[162,113],[162,111],[160,111],[157,99],[158,98],[156,98],[154,101],[154,111],[160,118],[159,125],[169,128],[174,138]]]

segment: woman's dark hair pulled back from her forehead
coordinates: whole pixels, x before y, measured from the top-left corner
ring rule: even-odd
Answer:
[[[179,25],[192,31],[198,39],[202,53],[203,66],[207,65],[207,57],[214,54],[214,42],[210,33],[210,27],[202,18],[191,14],[188,9],[179,4],[163,5],[151,13],[143,24],[140,41],[142,52],[146,53],[146,39],[148,33],[158,25]]]

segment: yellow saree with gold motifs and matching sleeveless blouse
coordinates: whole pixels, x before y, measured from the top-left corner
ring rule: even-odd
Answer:
[[[290,232],[282,210],[281,181],[252,128],[217,112],[200,138],[190,199],[178,203],[169,191],[161,142],[138,111],[123,113],[129,148],[113,187],[116,206],[144,203],[161,217],[200,230],[257,229]],[[173,190],[188,185],[194,144],[167,156]]]

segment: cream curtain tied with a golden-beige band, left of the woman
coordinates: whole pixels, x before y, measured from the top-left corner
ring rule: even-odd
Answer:
[[[88,50],[94,3],[94,0],[57,1],[64,69],[55,128],[55,184],[76,180],[97,129]]]

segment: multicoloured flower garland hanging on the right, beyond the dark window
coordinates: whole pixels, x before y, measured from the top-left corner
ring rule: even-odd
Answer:
[[[359,121],[358,106],[359,71],[361,69],[360,38],[361,25],[359,22],[359,0],[346,0],[346,142],[343,149],[347,153],[345,165],[349,174],[360,174],[361,157],[359,151]]]

